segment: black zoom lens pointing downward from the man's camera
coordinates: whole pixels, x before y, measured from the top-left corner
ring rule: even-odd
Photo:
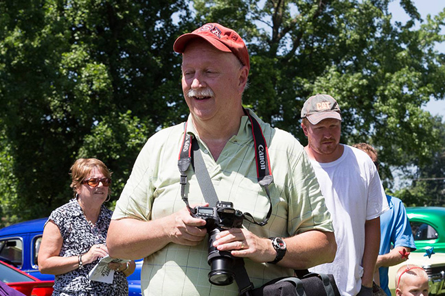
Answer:
[[[218,228],[209,233],[207,262],[210,265],[209,282],[216,286],[227,286],[235,279],[233,273],[234,258],[229,251],[218,251],[213,246],[215,236],[220,232]]]

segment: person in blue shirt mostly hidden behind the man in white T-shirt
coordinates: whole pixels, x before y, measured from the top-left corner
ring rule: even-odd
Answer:
[[[367,143],[353,145],[367,153],[376,164],[377,171],[378,154],[376,149]],[[388,269],[408,259],[407,253],[415,250],[415,243],[411,225],[407,217],[403,203],[397,197],[387,195],[389,211],[380,216],[380,249],[376,262],[376,274],[374,281],[380,284],[385,293],[391,296],[388,288]],[[391,249],[391,245],[393,245]]]

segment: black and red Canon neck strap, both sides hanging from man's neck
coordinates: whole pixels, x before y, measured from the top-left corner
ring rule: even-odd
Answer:
[[[244,114],[249,117],[252,126],[252,134],[253,134],[253,142],[255,145],[255,161],[257,167],[257,176],[258,176],[258,184],[264,188],[266,191],[266,195],[269,198],[269,212],[266,215],[266,218],[261,222],[255,221],[253,216],[245,212],[244,219],[247,221],[264,226],[269,221],[269,218],[272,214],[272,201],[271,195],[269,193],[269,185],[273,182],[273,176],[271,174],[271,162],[269,160],[269,151],[267,149],[266,140],[264,139],[264,135],[262,133],[260,123],[256,119],[254,119],[247,110],[244,110]],[[196,142],[197,143],[197,142]],[[190,208],[188,203],[187,194],[185,194],[185,185],[187,185],[187,169],[189,169],[190,164],[192,163],[192,140],[191,136],[187,134],[187,122],[184,124],[184,136],[181,145],[181,150],[179,151],[179,160],[178,160],[178,168],[181,172],[181,180],[179,183],[181,184],[181,199],[184,201],[187,209],[190,212],[194,213],[194,209]],[[194,213],[195,214],[195,213]]]

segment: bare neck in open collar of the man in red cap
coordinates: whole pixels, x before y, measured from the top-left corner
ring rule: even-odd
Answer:
[[[241,117],[244,115],[242,109],[230,119],[212,119],[199,121],[192,115],[192,123],[201,140],[207,145],[214,160],[218,160],[221,151],[232,136],[238,134],[240,130]]]

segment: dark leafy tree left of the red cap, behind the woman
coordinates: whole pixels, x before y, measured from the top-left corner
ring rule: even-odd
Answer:
[[[2,199],[17,201],[22,219],[72,196],[69,167],[80,156],[100,157],[125,180],[141,142],[186,114],[172,53],[186,12],[184,0],[0,2],[0,130],[10,159],[0,175],[14,176],[17,197]],[[139,147],[126,145],[134,136]]]

